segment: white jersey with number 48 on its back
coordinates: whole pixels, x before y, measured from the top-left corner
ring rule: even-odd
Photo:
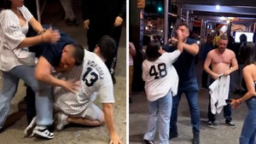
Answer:
[[[172,66],[180,55],[179,50],[164,53],[157,60],[143,61],[143,80],[148,101],[155,101],[164,97],[170,90],[177,95],[178,76]]]

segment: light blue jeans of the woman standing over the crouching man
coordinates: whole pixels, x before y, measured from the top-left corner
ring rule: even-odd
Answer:
[[[10,101],[15,96],[20,79],[36,93],[37,124],[52,124],[52,100],[49,90],[45,91],[45,89],[49,89],[49,86],[38,85],[38,81],[34,77],[34,66],[15,66],[9,72],[3,72],[3,89],[0,91],[0,129],[3,128],[9,114]]]

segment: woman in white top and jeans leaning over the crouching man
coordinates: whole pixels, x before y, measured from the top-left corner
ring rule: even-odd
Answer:
[[[0,70],[3,72],[3,89],[0,91],[0,130],[9,112],[9,104],[15,96],[19,79],[35,93],[38,82],[34,77],[35,55],[28,47],[38,43],[55,43],[60,38],[57,31],[44,31],[35,20],[23,0],[3,0],[0,11]],[[26,37],[28,25],[38,36]]]

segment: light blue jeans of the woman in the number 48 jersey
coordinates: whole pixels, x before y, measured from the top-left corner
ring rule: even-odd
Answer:
[[[172,94],[156,101],[148,101],[148,128],[144,140],[154,141],[155,131],[159,127],[160,144],[169,144],[169,123],[172,112]]]

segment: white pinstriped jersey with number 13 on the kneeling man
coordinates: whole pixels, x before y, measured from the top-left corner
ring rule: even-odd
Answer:
[[[73,94],[63,88],[56,87],[55,107],[63,112],[79,114],[84,112],[87,104],[94,101],[96,96],[101,103],[113,103],[113,82],[108,67],[96,54],[84,50],[82,66],[74,66],[70,71],[59,76],[69,81],[80,83],[79,92]]]

